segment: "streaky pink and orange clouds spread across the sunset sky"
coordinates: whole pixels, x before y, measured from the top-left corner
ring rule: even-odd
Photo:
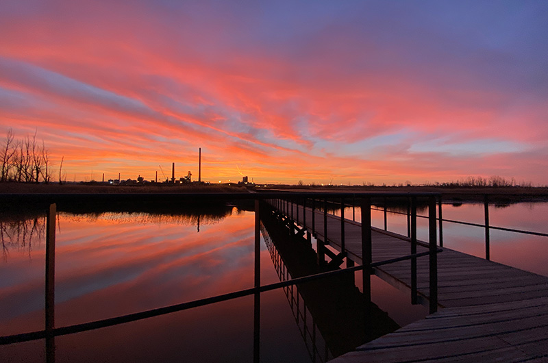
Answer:
[[[429,64],[399,59],[411,43],[360,37],[353,23],[299,34],[288,49],[269,47],[245,33],[238,12],[211,13],[205,22],[195,12],[207,13],[58,1],[25,18],[4,17],[10,36],[0,40],[0,87],[34,107],[10,106],[1,125],[21,134],[38,128],[78,179],[90,169],[129,176],[173,161],[188,168],[202,147],[210,180],[237,179],[234,164],[246,164],[264,182],[330,175],[344,183],[423,182],[484,174],[491,158],[498,166],[490,171],[543,182],[534,173],[546,157],[542,97],[510,92],[506,79],[490,82],[489,72],[471,68],[479,63],[445,54]],[[372,138],[403,132],[368,149]],[[487,136],[523,150],[494,147],[458,160],[443,149],[413,149]],[[349,144],[356,152],[345,151]],[[510,162],[521,155],[528,166]]]

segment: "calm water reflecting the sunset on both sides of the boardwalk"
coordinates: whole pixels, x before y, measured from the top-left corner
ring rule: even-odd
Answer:
[[[443,212],[444,218],[483,223],[483,205],[444,205]],[[345,213],[351,218],[351,208]],[[491,206],[490,224],[546,233],[547,215],[548,203]],[[360,211],[356,210],[359,218]],[[383,227],[382,212],[373,211],[373,225]],[[425,226],[426,220],[419,218],[418,234],[423,240],[427,236]],[[0,335],[43,329],[45,216],[6,219],[0,227]],[[388,214],[388,229],[406,234],[406,217]],[[55,326],[251,288],[253,231],[253,212],[237,208],[224,215],[200,217],[60,212],[55,251]],[[445,223],[443,235],[446,247],[484,257],[484,229]],[[282,253],[283,243],[277,245],[280,251],[274,254],[265,244],[265,240],[270,245],[277,239],[279,236],[272,231],[266,233],[263,227],[263,285],[280,280],[273,259],[276,253]],[[548,276],[547,244],[546,237],[491,231],[491,260]],[[309,252],[303,250],[305,255]],[[285,271],[300,273],[287,258],[284,260]],[[356,296],[352,289],[347,290]],[[379,314],[388,313],[384,325],[390,321],[406,325],[426,314],[422,306],[408,303],[407,294],[375,277],[372,294]],[[333,340],[325,330],[329,324],[325,312],[316,308],[329,301],[316,295],[310,288],[299,293],[297,289],[278,289],[261,295],[261,362],[312,362],[314,356],[316,362],[321,361],[326,340]],[[331,306],[338,310],[337,303]],[[304,316],[308,317],[306,323]],[[315,347],[312,336],[316,337]],[[334,347],[329,349],[336,351],[338,343],[332,344]],[[55,345],[57,362],[249,362],[253,360],[253,297],[62,336],[55,339]],[[1,346],[0,361],[43,361],[44,346],[43,340]]]

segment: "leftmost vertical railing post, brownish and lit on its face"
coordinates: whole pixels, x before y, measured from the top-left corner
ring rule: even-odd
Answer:
[[[49,205],[46,217],[46,361],[55,362],[55,203]]]

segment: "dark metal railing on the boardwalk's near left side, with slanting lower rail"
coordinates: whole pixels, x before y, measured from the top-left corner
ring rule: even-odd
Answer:
[[[400,196],[401,193],[390,193],[386,197]],[[408,195],[407,193],[405,195]],[[306,277],[299,277],[286,281],[280,281],[274,284],[260,285],[260,201],[269,200],[275,201],[277,208],[284,210],[286,213],[289,208],[289,201],[297,198],[311,200],[312,210],[316,200],[324,201],[324,221],[327,221],[327,199],[336,198],[340,200],[344,205],[345,198],[352,197],[355,200],[356,197],[362,200],[362,211],[369,211],[365,213],[365,218],[362,216],[362,256],[363,263],[360,266],[347,266],[336,271],[327,271],[323,273],[317,273],[315,275],[309,275]],[[308,281],[322,279],[325,277],[331,277],[338,274],[352,273],[355,271],[362,271],[364,295],[367,301],[371,301],[371,271],[372,268],[382,266],[383,264],[393,263],[403,260],[416,260],[423,255],[429,255],[430,258],[430,311],[437,310],[437,260],[436,253],[441,249],[436,245],[436,225],[435,225],[435,199],[431,194],[420,194],[417,197],[429,197],[432,200],[434,209],[431,208],[431,212],[434,211],[434,225],[430,224],[430,240],[429,251],[425,253],[410,253],[410,255],[394,258],[392,260],[386,260],[382,262],[372,262],[371,260],[371,197],[379,197],[379,194],[369,195],[367,193],[357,194],[345,194],[345,193],[295,193],[295,192],[265,192],[265,193],[158,193],[158,194],[140,194],[140,193],[127,193],[127,194],[65,194],[65,195],[51,195],[51,194],[12,194],[12,195],[0,195],[1,203],[40,203],[48,205],[47,210],[47,238],[46,238],[46,296],[45,296],[45,329],[39,331],[29,331],[23,334],[13,334],[10,336],[0,336],[0,345],[9,345],[16,342],[27,342],[30,340],[38,340],[45,338],[46,340],[46,360],[47,362],[55,362],[55,337],[64,336],[67,334],[76,334],[82,331],[90,331],[93,329],[99,329],[102,327],[112,327],[123,323],[129,323],[132,321],[140,321],[145,318],[151,318],[153,316],[161,316],[164,314],[171,314],[173,312],[179,312],[182,310],[188,310],[191,308],[197,308],[203,305],[210,305],[212,303],[219,303],[221,301],[227,301],[231,299],[237,299],[239,297],[245,297],[254,295],[254,314],[253,314],[253,360],[259,362],[260,351],[260,293],[278,288],[284,288],[286,286],[293,286],[296,284],[303,284]],[[123,316],[116,316],[112,318],[105,318],[99,321],[90,321],[88,323],[80,323],[75,325],[67,325],[64,327],[55,327],[55,216],[56,205],[55,203],[87,203],[87,202],[110,202],[110,201],[153,201],[160,203],[178,203],[184,201],[231,201],[231,200],[253,200],[254,210],[256,213],[255,220],[255,264],[254,264],[254,287],[247,288],[245,290],[239,290],[229,292],[223,295],[217,295],[214,297],[207,297],[204,299],[198,299],[194,301],[187,301],[184,303],[177,303],[174,305],[165,306],[162,308],[155,308],[142,312],[136,312],[132,314],[126,314]],[[429,200],[430,200],[429,199]],[[432,207],[431,205],[431,207]],[[298,211],[298,209],[297,209]],[[297,212],[298,213],[298,212]],[[363,212],[362,212],[363,213]],[[291,215],[293,210],[291,210]],[[293,215],[292,215],[293,216]],[[306,214],[305,214],[306,216]],[[430,216],[432,221],[432,216]],[[345,218],[341,218],[341,236],[345,238],[344,229]],[[312,213],[312,225],[314,225],[314,213]],[[327,240],[327,226],[325,225],[325,240]],[[413,243],[412,243],[413,245]],[[345,251],[343,242],[343,253]],[[414,274],[416,275],[416,266]],[[414,289],[416,294],[416,287]]]

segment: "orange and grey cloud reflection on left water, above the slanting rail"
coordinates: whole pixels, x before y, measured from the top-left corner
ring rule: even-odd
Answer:
[[[56,323],[82,323],[253,285],[253,214],[234,214],[197,234],[188,218],[75,218],[60,214]],[[114,223],[110,220],[114,218]],[[171,222],[170,222],[171,221]],[[43,248],[36,258],[43,260]],[[3,331],[40,329],[44,265],[0,290]],[[8,266],[2,270],[9,271]],[[85,313],[84,313],[85,312]],[[30,318],[35,316],[35,318]],[[39,320],[38,320],[39,319]],[[34,323],[25,323],[23,321]]]

